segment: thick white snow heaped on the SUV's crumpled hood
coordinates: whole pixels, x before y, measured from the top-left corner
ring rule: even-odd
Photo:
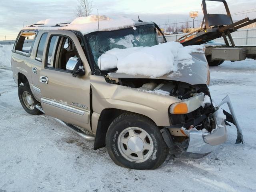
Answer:
[[[130,38],[127,39],[130,40]],[[122,39],[122,44],[125,42],[126,39]],[[178,42],[168,42],[152,47],[114,48],[98,58],[98,66],[101,70],[118,68],[117,73],[140,74],[156,78],[172,71],[177,72],[178,63],[193,64],[190,54],[204,53],[203,48],[198,45],[183,47]]]

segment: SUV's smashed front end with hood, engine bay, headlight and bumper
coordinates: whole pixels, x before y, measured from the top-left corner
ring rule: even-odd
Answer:
[[[136,88],[142,92],[164,94],[180,101],[169,107],[170,126],[164,126],[162,135],[170,147],[172,141],[186,142],[184,154],[193,158],[206,156],[219,144],[227,140],[226,125],[233,123],[237,128],[236,143],[243,143],[242,130],[226,96],[214,106],[210,96],[210,72],[204,54],[193,53],[191,65],[178,65],[178,72],[170,72],[161,77],[150,78],[143,75],[130,75],[111,72],[106,81]],[[230,113],[220,111],[227,103]],[[226,117],[225,117],[226,116]],[[168,130],[168,131],[167,131]]]

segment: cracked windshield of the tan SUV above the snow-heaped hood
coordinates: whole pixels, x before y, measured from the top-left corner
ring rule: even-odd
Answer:
[[[98,58],[113,48],[146,47],[159,44],[154,24],[136,26],[115,31],[92,32],[85,35],[93,74],[99,74]]]

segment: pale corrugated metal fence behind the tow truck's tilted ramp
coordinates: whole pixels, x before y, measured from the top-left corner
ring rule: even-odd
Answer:
[[[176,41],[178,38],[184,36],[183,34],[165,35],[167,42]],[[236,45],[256,45],[256,28],[240,29],[231,34]],[[163,42],[162,36],[158,36],[159,42]],[[223,37],[215,39],[216,42],[224,43]]]

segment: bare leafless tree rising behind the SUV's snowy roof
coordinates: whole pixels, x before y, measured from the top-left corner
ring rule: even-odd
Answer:
[[[92,0],[77,0],[78,6],[76,6],[77,17],[87,17],[92,13]]]

